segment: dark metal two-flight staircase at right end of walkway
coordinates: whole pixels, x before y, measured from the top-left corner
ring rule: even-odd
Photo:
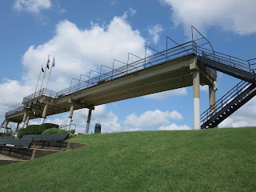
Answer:
[[[242,79],[214,106],[201,114],[201,129],[214,128],[256,95],[256,75],[249,61],[205,48],[198,49],[198,62],[214,70]]]

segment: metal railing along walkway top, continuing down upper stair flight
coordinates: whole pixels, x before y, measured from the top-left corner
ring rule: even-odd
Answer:
[[[210,43],[210,42],[208,42],[208,43]],[[150,48],[151,50],[154,50],[150,46],[146,46],[146,49],[147,49],[147,47]],[[167,47],[167,45],[166,45],[166,47]],[[198,56],[209,58],[216,62],[222,62],[222,64],[225,64],[228,66],[234,66],[235,68],[245,70],[247,72],[250,72],[251,74],[254,73],[254,69],[251,67],[254,64],[250,64],[251,60],[254,60],[254,59],[246,61],[246,60],[243,60],[240,58],[235,58],[235,57],[227,55],[227,54],[221,54],[221,53],[214,51],[213,49],[208,50],[206,48],[203,48],[202,45],[198,46],[194,41],[186,42],[181,45],[174,46],[170,49],[163,50],[161,52],[154,50],[154,52],[157,52],[157,53],[152,54],[147,57],[146,57],[146,53],[145,53],[145,58],[140,58],[137,61],[131,62],[131,63],[128,63],[128,61],[129,61],[129,58],[128,58],[127,63],[121,62],[125,65],[118,67],[117,69],[114,69],[114,63],[113,63],[112,70],[110,70],[109,72],[106,72],[104,74],[102,74],[102,72],[98,72],[99,75],[96,77],[90,77],[90,75],[89,75],[89,76],[87,76],[88,80],[86,80],[86,81],[82,81],[81,75],[80,75],[80,78],[76,79],[76,80],[78,80],[78,84],[72,86],[72,80],[73,80],[72,79],[70,87],[68,87],[64,90],[60,90],[58,92],[55,92],[53,90],[47,90],[45,88],[42,90],[38,90],[35,93],[30,94],[26,98],[23,98],[22,103],[29,102],[30,100],[32,100],[34,98],[38,98],[39,96],[42,96],[42,95],[50,97],[50,98],[62,98],[64,96],[74,94],[75,92],[78,92],[80,90],[86,90],[92,86],[101,85],[104,82],[108,82],[108,81],[116,79],[116,78],[121,78],[128,74],[134,73],[135,71],[144,70],[151,66],[158,65],[161,62],[170,61],[172,59],[182,57],[187,54],[196,54]],[[129,57],[129,54],[128,54],[128,57]],[[138,56],[136,56],[136,57],[138,58]],[[120,61],[114,59],[114,62],[115,61],[120,62]],[[213,72],[214,72],[214,74],[216,74],[216,70],[213,70]],[[84,75],[84,76],[86,76],[86,75]],[[8,111],[6,112],[6,115],[14,114],[20,110],[22,110],[21,103],[19,103],[18,105],[11,106],[8,109]]]

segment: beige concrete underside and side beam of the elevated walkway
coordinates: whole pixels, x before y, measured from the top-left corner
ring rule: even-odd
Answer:
[[[200,72],[200,84],[202,86],[212,85],[216,80],[216,75],[212,70],[197,63],[195,54],[187,54],[146,69],[137,70],[121,78],[80,90],[62,98],[49,98],[46,96],[34,98],[29,102],[23,103],[27,107],[26,109],[6,116],[6,119],[10,122],[22,122],[25,110],[28,111],[30,119],[41,118],[46,103],[48,103],[46,116],[50,116],[69,111],[72,103],[74,110],[78,110],[127,98],[136,98],[146,94],[192,86],[192,72],[194,70]]]

